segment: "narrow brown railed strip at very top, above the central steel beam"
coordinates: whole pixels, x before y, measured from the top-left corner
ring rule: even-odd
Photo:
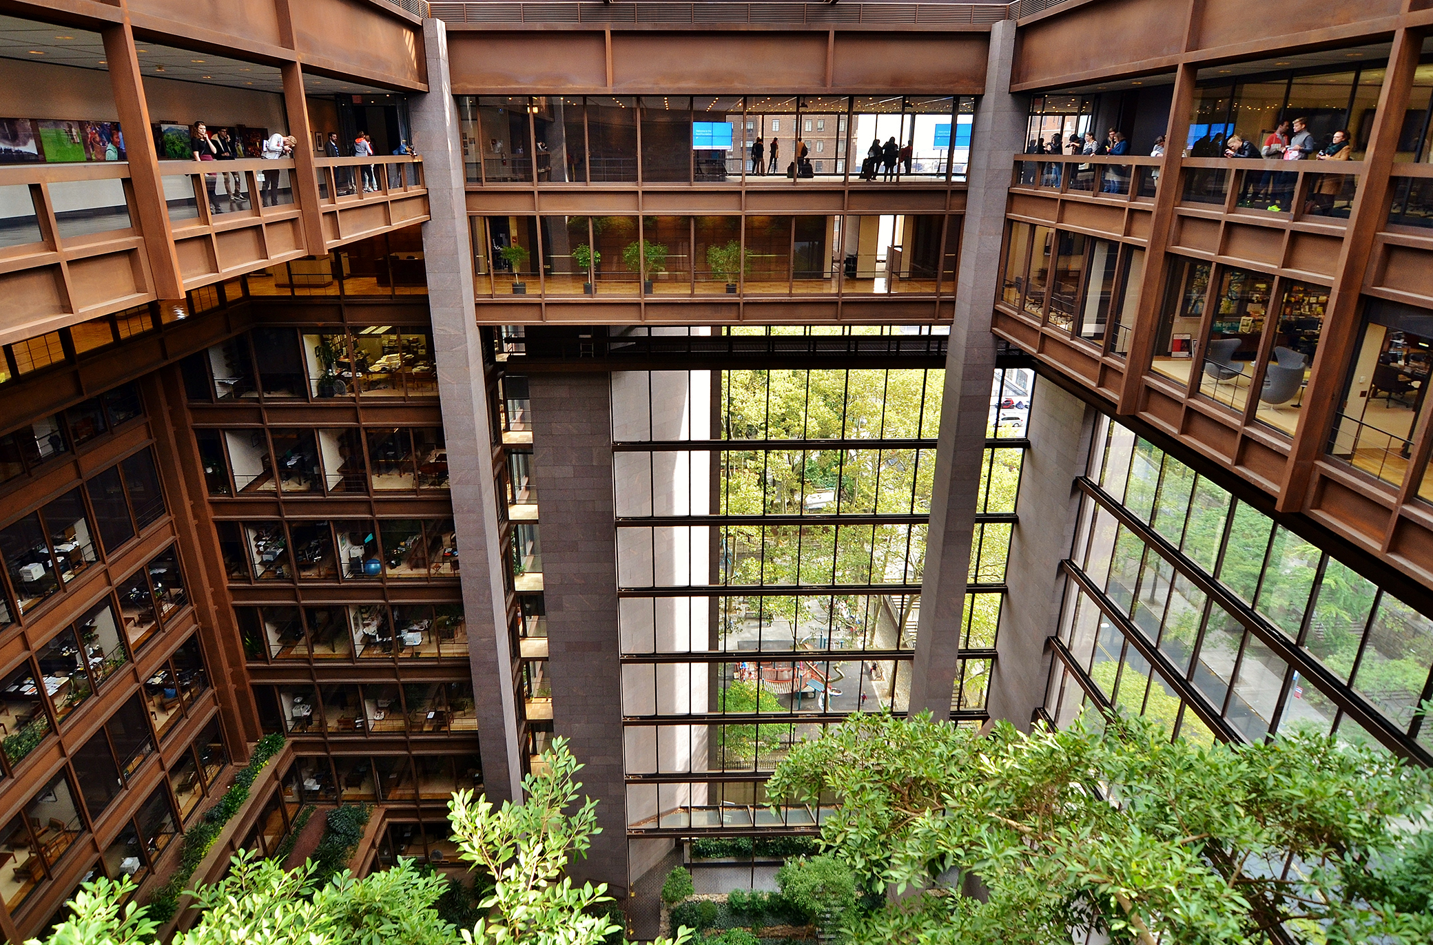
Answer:
[[[810,24],[834,23],[986,26],[1015,19],[1006,3],[522,3],[430,0],[431,16],[447,23],[662,23]]]

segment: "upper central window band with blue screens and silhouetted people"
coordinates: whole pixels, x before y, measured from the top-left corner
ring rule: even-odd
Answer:
[[[964,180],[973,122],[970,96],[459,96],[477,185]]]

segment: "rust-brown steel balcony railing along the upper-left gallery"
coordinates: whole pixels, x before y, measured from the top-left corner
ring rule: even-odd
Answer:
[[[317,162],[320,199],[305,206],[294,159],[160,160],[178,272],[145,242],[128,162],[0,166],[0,344],[427,219],[420,158]]]

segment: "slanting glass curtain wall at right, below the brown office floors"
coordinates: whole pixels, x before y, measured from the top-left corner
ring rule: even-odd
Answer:
[[[1091,457],[1052,719],[1119,706],[1202,742],[1433,747],[1433,620],[1108,418]]]

